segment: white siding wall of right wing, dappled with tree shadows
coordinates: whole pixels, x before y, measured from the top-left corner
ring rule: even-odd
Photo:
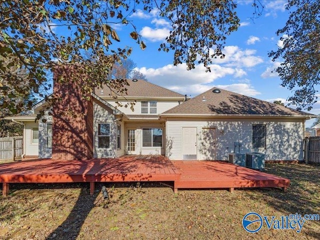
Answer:
[[[252,124],[266,125],[266,148],[252,148]],[[166,154],[170,159],[182,159],[182,127],[197,127],[197,159],[202,159],[202,127],[216,130],[216,159],[226,160],[234,152],[234,142],[240,142],[240,152],[262,152],[266,160],[302,160],[303,120],[228,120],[168,119]],[[206,139],[206,141],[208,141]],[[206,142],[206,144],[210,144]],[[237,149],[236,149],[237,152]]]

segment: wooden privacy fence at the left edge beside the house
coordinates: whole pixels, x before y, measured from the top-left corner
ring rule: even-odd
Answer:
[[[23,153],[22,136],[0,137],[0,160],[14,160]]]

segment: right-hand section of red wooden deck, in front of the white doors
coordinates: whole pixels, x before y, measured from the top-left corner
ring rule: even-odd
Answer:
[[[173,161],[181,172],[175,188],[281,187],[290,180],[223,161]]]

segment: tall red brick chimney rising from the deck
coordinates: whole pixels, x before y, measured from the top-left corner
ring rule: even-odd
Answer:
[[[57,101],[52,107],[52,159],[93,157],[93,100],[91,96],[90,100],[83,99],[81,86],[67,80],[75,70],[72,65],[53,69],[53,96]]]

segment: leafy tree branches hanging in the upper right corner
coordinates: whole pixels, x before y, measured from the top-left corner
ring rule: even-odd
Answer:
[[[316,85],[320,81],[320,4],[317,0],[288,0],[290,16],[277,30],[283,47],[271,51],[272,60],[280,60],[276,72],[281,85],[293,90],[288,98],[299,109],[310,110],[316,102]]]

